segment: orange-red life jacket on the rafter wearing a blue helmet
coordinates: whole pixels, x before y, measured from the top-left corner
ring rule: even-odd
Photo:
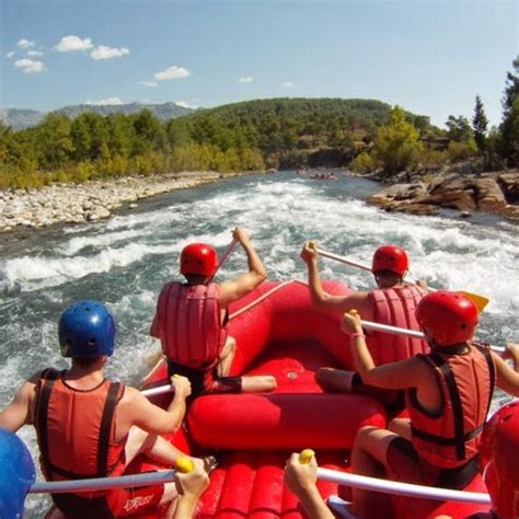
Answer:
[[[104,380],[92,390],[79,391],[67,385],[64,373],[47,369],[38,382],[34,426],[46,478],[61,481],[122,474],[126,441],[115,441],[114,418],[125,387]]]

